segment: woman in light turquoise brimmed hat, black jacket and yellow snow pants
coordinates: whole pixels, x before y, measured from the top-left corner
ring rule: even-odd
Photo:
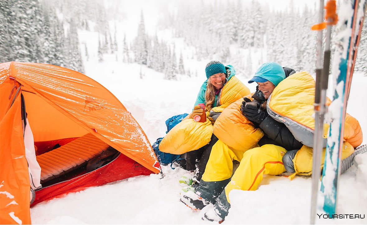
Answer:
[[[275,87],[286,78],[288,69],[283,69],[278,63],[264,63],[249,81],[258,83],[258,90],[251,97],[257,106],[247,104],[251,100],[247,97],[241,106],[241,112],[255,127],[261,128],[264,137],[259,141],[261,147],[250,150],[232,150],[222,141],[218,141],[212,149],[200,185],[195,192],[187,192],[181,196],[181,201],[193,209],[202,209],[207,204],[214,204],[214,208],[204,214],[204,220],[224,220],[230,208],[229,192],[233,189],[256,190],[263,174],[280,174],[286,171],[282,161],[287,150],[299,149],[302,143],[297,141],[288,128],[272,119],[266,112],[266,99]],[[293,72],[292,72],[293,73]],[[287,74],[288,75],[288,74]],[[250,97],[250,95],[249,95]],[[213,156],[213,157],[212,157]],[[219,159],[223,158],[223,162]],[[227,159],[240,161],[240,165],[232,176],[232,171],[223,170],[230,167]],[[232,163],[229,160],[229,163]],[[222,179],[216,176],[221,174]]]

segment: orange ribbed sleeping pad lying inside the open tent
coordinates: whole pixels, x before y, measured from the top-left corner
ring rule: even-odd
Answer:
[[[79,168],[108,147],[108,144],[88,133],[57,149],[38,155],[37,162],[41,167],[41,181],[46,182]]]

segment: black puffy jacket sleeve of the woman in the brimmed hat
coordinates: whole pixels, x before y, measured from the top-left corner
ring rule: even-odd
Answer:
[[[284,123],[276,121],[269,115],[259,124],[259,127],[270,139],[276,141],[279,146],[287,151],[300,149],[303,145],[294,138]]]

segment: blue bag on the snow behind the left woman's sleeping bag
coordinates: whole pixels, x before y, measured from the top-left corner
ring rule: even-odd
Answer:
[[[189,114],[184,113],[184,114],[175,115],[173,117],[168,118],[166,120],[166,126],[167,126],[166,133],[168,133],[174,126],[176,126],[179,122],[181,122],[182,119],[184,119],[187,115],[189,115]],[[163,137],[160,137],[152,145],[153,150],[154,150],[154,152],[155,152],[155,154],[158,158],[159,163],[162,164],[162,165],[168,165],[170,163],[173,163],[175,161],[180,160],[181,155],[175,155],[175,154],[171,154],[171,153],[161,152],[159,150],[159,144],[162,141],[162,139],[163,139]]]

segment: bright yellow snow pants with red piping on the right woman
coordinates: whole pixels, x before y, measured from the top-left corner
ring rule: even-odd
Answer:
[[[282,158],[287,152],[285,148],[266,144],[247,151],[235,151],[221,140],[213,145],[208,164],[205,168],[204,181],[222,181],[232,176],[233,160],[240,162],[225,193],[229,202],[229,192],[233,189],[254,191],[262,181],[264,174],[278,175],[284,173]]]

